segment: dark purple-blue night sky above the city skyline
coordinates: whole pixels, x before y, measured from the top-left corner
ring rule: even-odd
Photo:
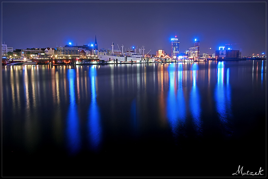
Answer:
[[[2,44],[15,49],[94,43],[200,55],[233,44],[242,56],[266,53],[266,2],[2,2]],[[211,50],[208,50],[211,48]]]

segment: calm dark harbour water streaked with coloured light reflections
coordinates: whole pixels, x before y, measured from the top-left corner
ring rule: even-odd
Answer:
[[[266,176],[266,61],[2,66],[4,177],[232,177],[239,165]]]

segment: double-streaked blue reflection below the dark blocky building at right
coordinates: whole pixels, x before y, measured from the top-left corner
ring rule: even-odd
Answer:
[[[215,88],[216,110],[221,124],[225,130],[230,132],[231,113],[231,89],[230,89],[230,69],[226,71],[226,85],[224,83],[224,62],[217,64],[217,84]]]

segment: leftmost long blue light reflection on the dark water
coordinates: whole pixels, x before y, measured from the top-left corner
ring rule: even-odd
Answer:
[[[67,78],[69,80],[69,95],[70,95],[70,106],[67,115],[67,143],[69,152],[74,155],[80,151],[81,148],[81,136],[79,118],[77,113],[77,104],[75,101],[75,90],[74,90],[74,79],[75,70],[67,70]]]

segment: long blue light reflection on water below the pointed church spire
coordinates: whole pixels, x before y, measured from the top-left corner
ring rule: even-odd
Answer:
[[[102,130],[100,125],[100,111],[97,104],[96,93],[96,66],[89,67],[89,77],[91,81],[91,103],[88,110],[88,135],[91,148],[97,150],[101,142]]]

